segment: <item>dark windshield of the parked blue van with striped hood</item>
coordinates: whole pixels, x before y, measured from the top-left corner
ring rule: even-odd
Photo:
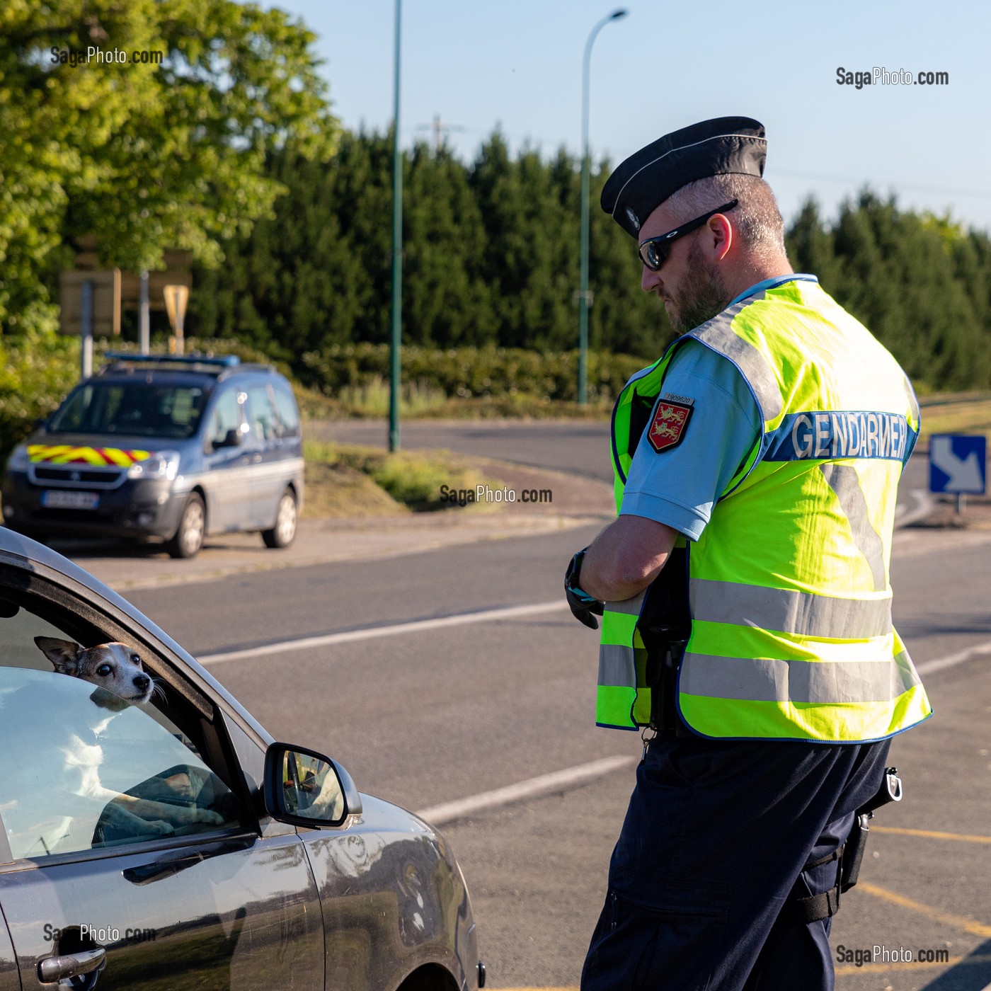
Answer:
[[[50,433],[191,437],[206,395],[197,385],[87,383],[69,394],[47,429]]]

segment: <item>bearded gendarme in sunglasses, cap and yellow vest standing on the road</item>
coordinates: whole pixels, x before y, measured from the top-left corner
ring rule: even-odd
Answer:
[[[649,739],[585,991],[831,989],[854,813],[932,715],[888,581],[919,406],[793,273],[765,155],[719,118],[603,191],[680,336],[616,401],[619,515],[566,576],[603,616],[597,722]]]

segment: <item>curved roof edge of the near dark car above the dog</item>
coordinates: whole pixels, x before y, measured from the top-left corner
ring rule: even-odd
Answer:
[[[132,606],[98,578],[80,568],[51,547],[17,533],[6,526],[0,526],[0,564],[13,565],[43,577],[68,579],[81,586],[89,596],[99,597],[118,611],[125,613],[136,624],[144,627],[154,637],[181,660],[188,673],[206,687],[214,699],[221,699],[241,719],[247,722],[267,743],[274,740],[272,734],[248,712],[188,651],[180,647],[165,630],[157,626],[140,609]],[[54,575],[53,575],[54,573]],[[60,583],[63,584],[63,583]],[[73,590],[77,591],[77,590]]]

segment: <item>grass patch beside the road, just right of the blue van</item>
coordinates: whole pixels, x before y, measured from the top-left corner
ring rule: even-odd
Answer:
[[[441,486],[474,489],[493,484],[446,451],[388,454],[357,444],[310,440],[303,455],[303,514],[313,518],[429,512],[450,504],[441,501]]]

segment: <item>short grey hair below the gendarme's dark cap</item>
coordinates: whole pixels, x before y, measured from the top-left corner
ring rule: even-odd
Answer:
[[[739,200],[726,219],[743,245],[761,261],[785,256],[785,222],[771,187],[757,175],[729,173],[696,179],[673,192],[667,203],[681,223]]]

